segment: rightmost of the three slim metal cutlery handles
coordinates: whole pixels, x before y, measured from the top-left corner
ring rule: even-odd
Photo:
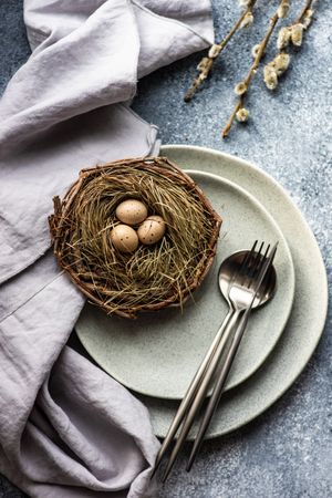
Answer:
[[[217,380],[217,382],[215,384],[212,394],[210,396],[210,400],[208,402],[206,412],[205,412],[203,421],[200,423],[200,426],[199,426],[199,429],[198,429],[198,433],[197,433],[197,437],[195,439],[195,443],[194,443],[194,446],[193,446],[193,449],[191,449],[191,454],[190,454],[190,457],[189,457],[189,460],[188,460],[187,471],[190,470],[190,468],[191,468],[191,466],[194,464],[196,455],[198,454],[199,448],[201,446],[204,436],[205,436],[205,434],[206,434],[206,432],[208,429],[208,426],[209,426],[209,424],[211,422],[211,418],[212,418],[212,416],[214,416],[214,414],[215,414],[215,412],[217,409],[217,406],[219,404],[219,401],[220,401],[220,397],[221,397],[221,394],[222,394],[222,391],[224,391],[224,387],[225,387],[228,374],[230,372],[234,359],[235,359],[235,356],[237,354],[238,347],[239,347],[241,339],[243,336],[243,332],[246,330],[250,312],[251,312],[251,308],[246,310],[246,312],[241,317],[239,325],[238,325],[238,328],[237,328],[237,330],[235,332],[235,335],[234,335],[234,338],[231,340],[231,343],[230,343],[229,350],[227,352],[225,362],[222,363],[221,370],[220,370],[219,375],[218,375],[218,380]]]

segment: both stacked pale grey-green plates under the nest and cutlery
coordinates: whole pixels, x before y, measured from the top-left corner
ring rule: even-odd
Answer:
[[[164,146],[160,154],[187,170],[224,219],[214,268],[183,313],[166,309],[129,321],[87,304],[76,332],[90,355],[148,407],[163,437],[227,312],[217,284],[220,262],[256,239],[279,240],[278,289],[250,318],[209,427],[207,437],[216,437],[261,414],[301,373],[323,331],[326,274],[304,218],[267,174],[200,147]]]

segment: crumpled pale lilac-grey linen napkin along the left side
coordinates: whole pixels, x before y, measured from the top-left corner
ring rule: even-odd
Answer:
[[[27,0],[32,55],[0,101],[0,471],[32,497],[149,497],[146,408],[65,345],[84,304],[46,216],[82,167],[156,152],[137,79],[212,42],[210,3]]]

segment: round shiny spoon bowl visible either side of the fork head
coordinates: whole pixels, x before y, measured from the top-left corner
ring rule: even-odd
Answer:
[[[249,252],[250,251],[245,250],[234,252],[228,258],[226,258],[220,264],[218,273],[219,289],[229,305],[231,305],[228,298],[230,282],[232,280],[234,274],[239,273],[241,264],[246,256],[249,255]],[[276,288],[277,288],[277,273],[272,264],[263,279],[262,286],[257,292],[257,297],[253,301],[252,308],[259,308],[266,304],[273,297]]]

